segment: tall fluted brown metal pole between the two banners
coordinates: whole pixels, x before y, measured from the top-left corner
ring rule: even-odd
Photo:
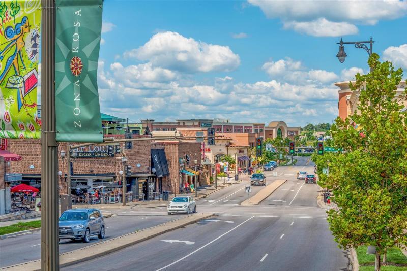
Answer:
[[[58,144],[55,140],[55,2],[41,1],[41,270],[58,271]]]

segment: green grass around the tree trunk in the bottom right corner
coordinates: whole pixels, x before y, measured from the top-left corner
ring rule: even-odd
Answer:
[[[374,257],[375,255],[366,254],[367,247],[360,246],[356,249],[358,255],[359,270],[360,271],[374,271]],[[383,259],[381,259],[383,260]],[[396,247],[387,249],[386,263],[381,264],[383,271],[406,271],[407,270],[407,257],[403,252]]]

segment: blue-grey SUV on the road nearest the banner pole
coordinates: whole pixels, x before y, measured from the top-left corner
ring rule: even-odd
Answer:
[[[89,243],[91,236],[105,238],[105,220],[98,209],[70,209],[58,220],[59,238],[82,239]]]

